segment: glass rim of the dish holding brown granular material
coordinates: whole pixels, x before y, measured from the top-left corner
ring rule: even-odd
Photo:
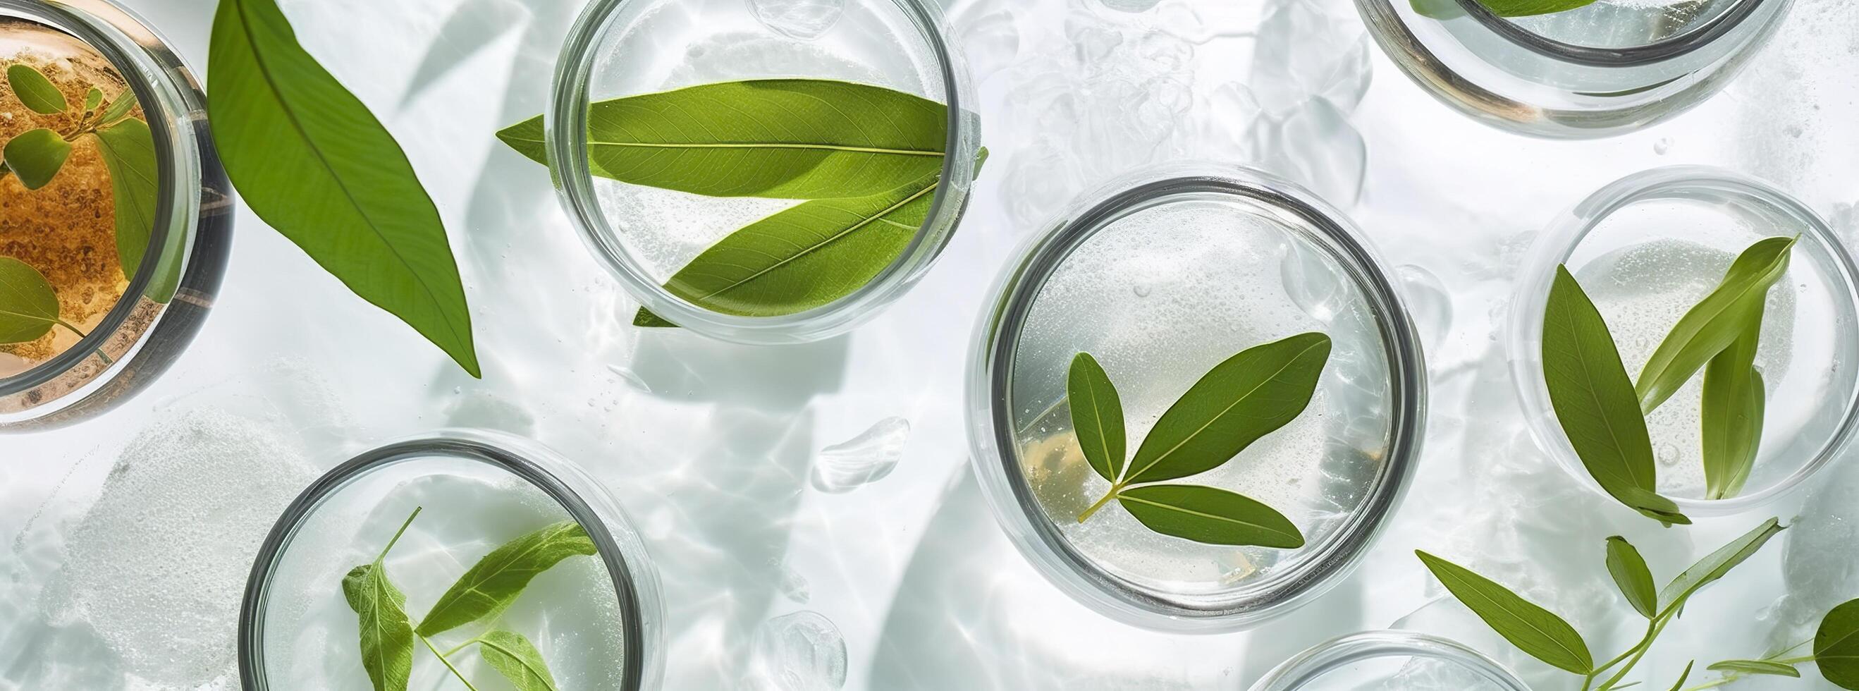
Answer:
[[[156,160],[165,163],[156,195],[160,221],[151,228],[141,267],[130,277],[123,297],[78,344],[26,372],[0,377],[0,399],[52,385],[104,351],[154,280],[156,266],[167,251],[167,238],[175,232],[191,236],[191,241],[178,247],[184,258],[175,297],[158,305],[158,314],[121,357],[74,390],[32,403],[19,414],[0,412],[0,431],[45,429],[95,416],[149,386],[199,332],[204,312],[219,290],[231,251],[231,223],[203,221],[206,204],[203,191],[229,189],[229,184],[218,165],[212,136],[206,132],[206,106],[199,82],[169,43],[134,11],[113,0],[0,0],[0,17],[52,26],[102,54],[134,91],[149,121]],[[177,303],[188,308],[177,310]],[[164,344],[145,347],[158,340],[158,334],[164,336],[160,338]],[[130,370],[136,375],[125,377]]]

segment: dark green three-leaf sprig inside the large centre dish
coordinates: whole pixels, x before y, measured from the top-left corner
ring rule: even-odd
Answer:
[[[1110,492],[1078,522],[1115,498],[1162,535],[1206,544],[1303,546],[1298,526],[1257,500],[1216,487],[1154,483],[1214,470],[1296,420],[1316,392],[1329,347],[1329,336],[1305,332],[1214,366],[1156,420],[1128,463],[1117,388],[1097,359],[1078,353],[1065,377],[1071,424],[1084,459],[1110,483]]]

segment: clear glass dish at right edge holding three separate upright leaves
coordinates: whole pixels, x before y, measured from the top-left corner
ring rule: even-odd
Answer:
[[[1511,297],[1511,381],[1537,444],[1601,492],[1569,446],[1543,383],[1543,306],[1556,266],[1601,308],[1638,377],[1673,323],[1716,288],[1723,269],[1760,238],[1800,240],[1788,273],[1768,293],[1762,370],[1768,407],[1755,470],[1742,494],[1705,500],[1699,450],[1703,375],[1647,416],[1658,492],[1688,516],[1733,515],[1773,500],[1826,468],[1859,418],[1859,288],[1852,254],[1814,212],[1749,176],[1697,165],[1628,175],[1556,219],[1530,249]]]

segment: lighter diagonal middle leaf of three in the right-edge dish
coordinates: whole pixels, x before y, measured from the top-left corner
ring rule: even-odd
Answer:
[[[1679,318],[1634,383],[1640,411],[1653,412],[1705,362],[1742,336],[1749,321],[1762,319],[1768,288],[1788,271],[1794,240],[1764,238],[1749,245],[1731,262],[1718,288]]]

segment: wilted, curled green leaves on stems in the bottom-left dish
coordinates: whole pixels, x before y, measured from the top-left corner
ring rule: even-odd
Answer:
[[[478,559],[459,576],[431,611],[415,624],[407,617],[407,598],[387,576],[385,559],[400,535],[405,533],[420,509],[407,516],[394,539],[372,563],[355,567],[342,578],[342,594],[355,611],[361,628],[361,659],[376,691],[405,691],[413,674],[413,643],[418,639],[439,656],[467,685],[468,680],[452,665],[450,656],[465,646],[478,646],[480,658],[521,691],[556,691],[541,652],[522,633],[493,628],[472,637],[452,652],[441,652],[431,637],[480,620],[494,620],[504,613],[537,574],[574,555],[593,555],[597,550],[587,531],[563,520],[534,533],[517,537]]]

